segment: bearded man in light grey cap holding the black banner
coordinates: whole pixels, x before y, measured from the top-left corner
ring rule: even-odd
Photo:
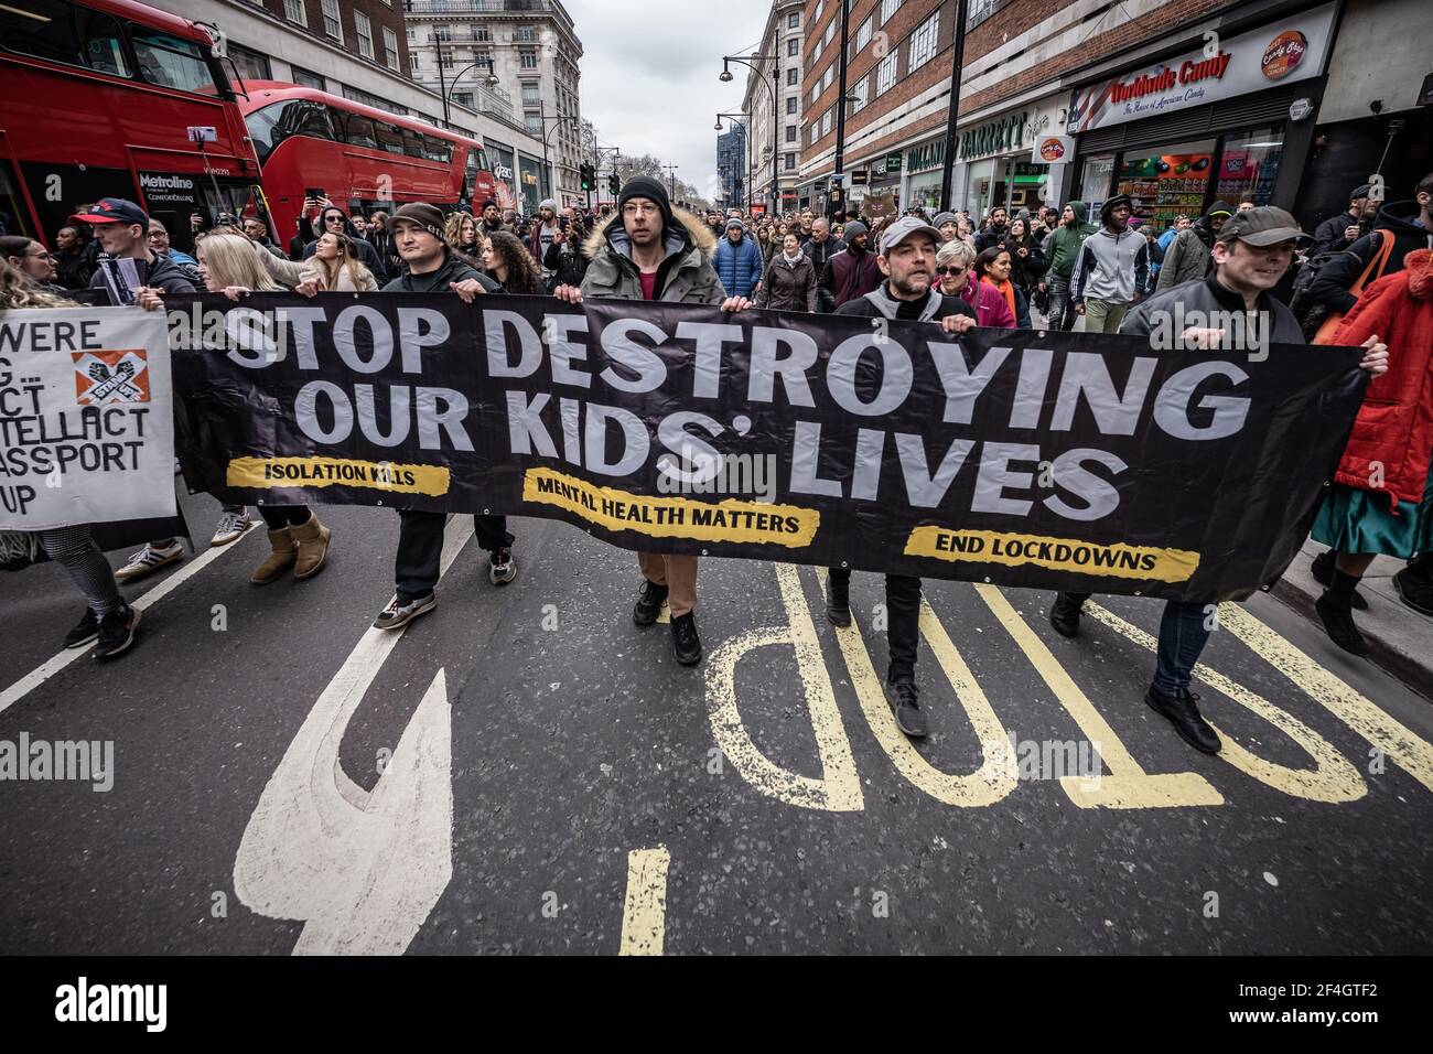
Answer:
[[[850,228],[847,228],[850,229]],[[888,321],[936,323],[946,333],[964,333],[976,324],[974,310],[962,297],[947,297],[936,280],[940,231],[917,217],[896,221],[881,234],[876,258],[886,281],[847,301],[838,315]],[[860,381],[858,381],[860,383]],[[854,466],[853,466],[854,467]],[[831,568],[827,579],[825,617],[833,625],[851,624],[851,571]],[[896,724],[911,737],[927,731],[916,690],[916,652],[920,648],[920,579],[886,575],[887,641],[890,664],[886,683]]]

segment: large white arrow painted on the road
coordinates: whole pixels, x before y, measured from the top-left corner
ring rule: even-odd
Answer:
[[[441,574],[471,536],[471,516],[449,521]],[[261,915],[305,922],[295,955],[398,955],[453,878],[444,670],[371,793],[338,764],[348,721],[403,632],[363,635],[318,697],[244,830],[234,889]]]

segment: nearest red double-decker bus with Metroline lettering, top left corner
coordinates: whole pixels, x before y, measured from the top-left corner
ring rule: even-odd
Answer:
[[[209,33],[130,0],[0,3],[0,209],[52,244],[130,198],[176,245],[189,218],[264,215],[259,165]]]

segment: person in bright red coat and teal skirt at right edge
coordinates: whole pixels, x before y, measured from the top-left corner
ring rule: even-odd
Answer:
[[[1356,655],[1367,641],[1353,607],[1367,605],[1354,587],[1376,555],[1416,556],[1393,584],[1404,604],[1433,615],[1433,251],[1403,262],[1363,291],[1328,341],[1356,346],[1379,334],[1389,346],[1389,371],[1369,383],[1311,532],[1336,554],[1315,608],[1334,644]]]

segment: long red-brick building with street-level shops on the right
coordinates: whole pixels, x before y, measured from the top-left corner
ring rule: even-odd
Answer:
[[[1386,171],[1390,196],[1407,196],[1403,184],[1429,168],[1417,99],[1430,63],[1409,33],[1422,24],[1412,0],[972,0],[943,202],[959,4],[848,7],[851,206],[878,195],[979,215],[1129,191],[1159,224],[1217,196],[1314,222],[1337,211],[1346,182]],[[805,20],[798,198],[820,206],[835,168],[840,0],[811,0]],[[1380,162],[1383,139],[1400,149]],[[1326,151],[1337,165],[1313,163]]]

